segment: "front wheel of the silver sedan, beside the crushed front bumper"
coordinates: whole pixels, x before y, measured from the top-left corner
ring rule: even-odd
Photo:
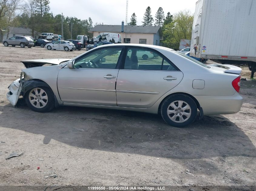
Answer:
[[[38,97],[40,97],[40,100]],[[45,99],[42,99],[42,97]],[[39,86],[28,90],[25,94],[25,102],[33,111],[42,113],[52,110],[55,106],[54,94],[51,89],[45,86]]]

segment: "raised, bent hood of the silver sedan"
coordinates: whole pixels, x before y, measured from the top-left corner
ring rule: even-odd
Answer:
[[[68,62],[70,59],[58,59],[58,58],[50,58],[50,59],[35,59],[35,60],[24,60],[21,61],[26,68],[32,68],[37,66],[43,66],[43,65],[59,65],[63,62]]]

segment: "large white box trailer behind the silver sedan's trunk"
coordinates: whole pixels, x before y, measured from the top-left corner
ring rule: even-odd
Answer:
[[[190,55],[221,64],[256,68],[256,1],[199,0],[196,2]]]

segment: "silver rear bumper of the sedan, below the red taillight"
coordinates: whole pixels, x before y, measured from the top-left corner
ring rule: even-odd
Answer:
[[[232,114],[240,111],[243,97],[235,92],[231,96],[194,96],[203,108],[204,115]]]

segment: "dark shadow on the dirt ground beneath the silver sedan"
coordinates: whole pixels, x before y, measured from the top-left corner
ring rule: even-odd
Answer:
[[[175,128],[159,115],[130,111],[59,107],[36,113],[10,104],[0,111],[1,127],[42,134],[45,144],[55,139],[86,149],[180,159],[256,157],[248,136],[221,115]]]

